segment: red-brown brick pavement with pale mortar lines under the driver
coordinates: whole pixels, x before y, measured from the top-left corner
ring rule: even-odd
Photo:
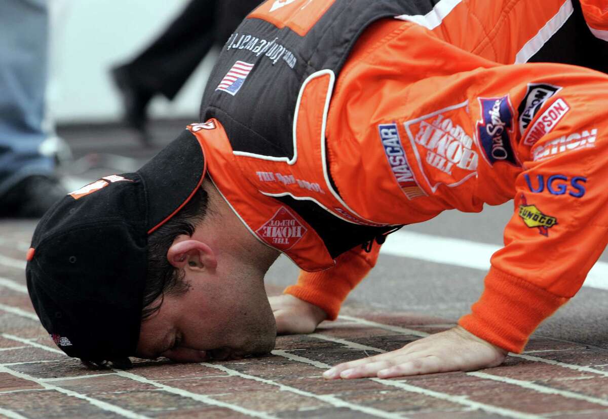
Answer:
[[[359,304],[314,334],[279,337],[261,358],[136,359],[130,370],[87,369],[55,347],[33,313],[23,275],[33,226],[0,223],[0,419],[608,418],[608,350],[541,337],[523,355],[480,372],[323,381],[330,365],[454,322]]]

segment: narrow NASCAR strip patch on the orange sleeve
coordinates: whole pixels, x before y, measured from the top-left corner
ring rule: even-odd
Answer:
[[[421,196],[427,196],[424,190],[418,186],[414,178],[412,168],[407,162],[406,152],[401,144],[401,137],[396,123],[383,123],[378,125],[382,147],[389,161],[390,168],[395,175],[402,192],[410,201]]]

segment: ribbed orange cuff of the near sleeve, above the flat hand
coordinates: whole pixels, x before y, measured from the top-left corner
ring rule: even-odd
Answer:
[[[542,320],[567,301],[492,267],[482,297],[458,324],[478,338],[520,353]]]

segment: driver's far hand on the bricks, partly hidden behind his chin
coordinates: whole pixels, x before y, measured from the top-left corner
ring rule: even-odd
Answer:
[[[279,334],[313,333],[327,318],[325,311],[316,305],[289,294],[269,297],[269,300]]]

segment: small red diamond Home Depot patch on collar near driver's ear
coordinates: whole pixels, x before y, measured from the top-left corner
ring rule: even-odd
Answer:
[[[306,234],[306,227],[285,207],[256,230],[256,234],[273,248],[283,252],[291,249]]]

